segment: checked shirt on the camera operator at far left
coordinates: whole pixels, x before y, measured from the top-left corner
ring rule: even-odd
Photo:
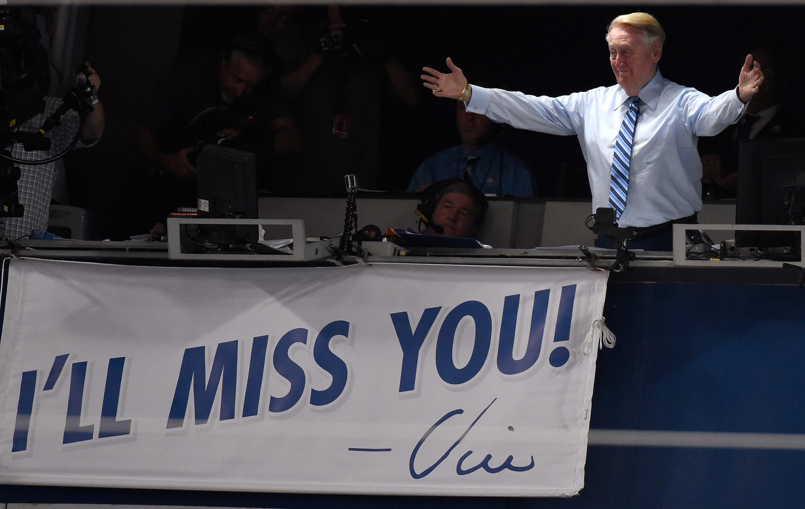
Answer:
[[[42,126],[47,117],[59,109],[61,104],[62,100],[59,97],[45,97],[45,110],[43,113],[36,115],[19,126],[19,130],[29,133],[35,132]],[[76,137],[78,126],[80,125],[81,118],[76,110],[69,110],[61,119],[61,125],[47,132],[46,136],[51,140],[49,151],[27,152],[23,150],[22,143],[14,143],[11,148],[11,155],[16,159],[36,161],[59,154]],[[94,144],[95,142],[85,144],[79,140],[76,148],[92,147]],[[6,232],[3,234],[5,238],[14,240],[23,235],[30,235],[31,230],[47,230],[53,183],[56,182],[56,175],[62,164],[61,159],[47,164],[19,164],[21,176],[17,181],[17,188],[19,202],[25,205],[25,213],[23,217],[5,218]]]

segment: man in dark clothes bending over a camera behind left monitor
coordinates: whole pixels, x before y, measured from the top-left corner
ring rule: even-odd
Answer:
[[[273,155],[299,151],[299,131],[279,87],[255,93],[272,60],[258,34],[242,33],[223,50],[178,61],[157,85],[134,128],[134,147],[151,170],[149,217],[163,222],[196,206],[196,156],[206,143],[254,152],[266,173]],[[140,222],[140,221],[138,221]]]

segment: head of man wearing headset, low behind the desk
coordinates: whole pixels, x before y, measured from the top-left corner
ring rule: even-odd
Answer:
[[[483,224],[489,204],[467,180],[448,179],[431,184],[416,209],[425,234],[472,238]]]

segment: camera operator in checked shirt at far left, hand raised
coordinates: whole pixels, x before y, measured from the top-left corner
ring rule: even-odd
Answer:
[[[81,139],[76,143],[75,148],[92,147],[97,143],[98,139],[101,139],[105,125],[103,106],[98,100],[101,78],[98,77],[97,72],[89,65],[89,62],[85,65],[87,80],[93,85],[94,110],[87,116]],[[62,102],[59,97],[45,97],[43,112],[23,123],[19,126],[19,130],[28,133],[36,132],[43,125],[45,119],[62,106]],[[76,110],[68,110],[64,117],[61,118],[60,125],[47,131],[46,137],[51,140],[49,150],[25,151],[23,143],[14,143],[11,147],[11,155],[15,159],[37,161],[60,154],[76,138],[80,125],[81,118]],[[17,188],[19,202],[24,205],[25,212],[23,217],[5,218],[5,238],[14,240],[30,235],[31,230],[47,230],[53,184],[56,182],[56,174],[58,173],[57,163],[60,163],[60,160],[38,165],[19,164],[20,177],[17,181]]]

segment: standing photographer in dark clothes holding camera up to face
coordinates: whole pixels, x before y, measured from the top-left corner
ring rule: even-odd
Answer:
[[[383,92],[407,106],[419,101],[411,73],[378,27],[354,9],[328,6],[326,21],[307,32],[288,29],[275,44],[305,147],[299,171],[276,176],[279,192],[340,193],[349,173],[375,188]]]

